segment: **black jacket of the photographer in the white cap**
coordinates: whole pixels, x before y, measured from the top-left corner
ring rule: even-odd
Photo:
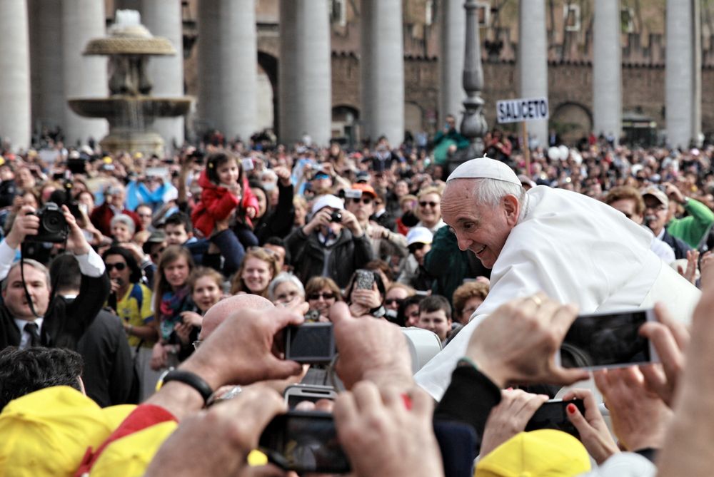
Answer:
[[[303,283],[307,283],[311,277],[323,275],[327,255],[327,276],[335,280],[340,288],[347,286],[355,270],[374,259],[367,236],[363,234],[354,237],[347,228],[343,228],[337,242],[330,247],[322,245],[317,231],[308,237],[302,227],[288,235],[286,245],[295,265],[295,274]]]

